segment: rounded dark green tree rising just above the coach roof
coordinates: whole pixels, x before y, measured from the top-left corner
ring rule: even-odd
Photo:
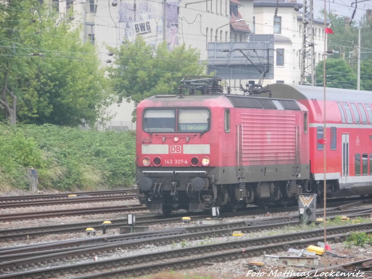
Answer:
[[[317,86],[323,86],[323,63],[319,61],[315,68]],[[344,59],[325,60],[325,76],[327,87],[356,89],[356,74]]]

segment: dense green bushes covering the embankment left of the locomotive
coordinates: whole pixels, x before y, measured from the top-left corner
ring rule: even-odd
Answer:
[[[26,168],[39,170],[39,186],[90,190],[132,185],[135,134],[55,125],[0,124],[0,189],[26,187]],[[3,177],[3,176],[1,176]]]

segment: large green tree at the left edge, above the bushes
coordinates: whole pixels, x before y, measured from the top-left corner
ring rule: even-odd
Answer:
[[[0,19],[5,118],[69,126],[102,118],[110,97],[104,71],[94,45],[81,41],[68,17],[39,1],[6,0]]]

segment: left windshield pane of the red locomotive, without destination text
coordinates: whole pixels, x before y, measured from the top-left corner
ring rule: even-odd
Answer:
[[[145,132],[174,132],[174,109],[147,109],[143,117]]]

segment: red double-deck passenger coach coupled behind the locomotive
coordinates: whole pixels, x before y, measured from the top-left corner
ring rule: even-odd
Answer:
[[[275,97],[295,99],[309,111],[310,183],[323,196],[326,148],[326,197],[372,194],[372,92],[272,84]],[[322,139],[326,144],[322,144]]]

